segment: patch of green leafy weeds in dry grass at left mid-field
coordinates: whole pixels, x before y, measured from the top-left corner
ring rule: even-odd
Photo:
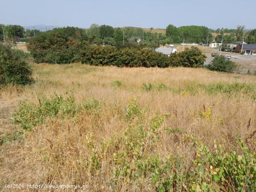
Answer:
[[[72,118],[82,110],[98,112],[100,103],[93,98],[89,98],[79,104],[75,102],[74,95],[64,99],[63,96],[55,94],[49,99],[45,97],[39,99],[36,104],[27,101],[20,102],[20,106],[13,113],[13,117],[16,124],[20,124],[22,129],[29,131],[33,126],[44,123],[46,119],[57,116],[62,119]]]

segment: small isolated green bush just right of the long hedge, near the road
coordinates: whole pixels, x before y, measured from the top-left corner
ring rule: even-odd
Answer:
[[[225,56],[220,55],[216,56],[206,67],[212,71],[233,72],[237,66],[235,62],[226,60]]]

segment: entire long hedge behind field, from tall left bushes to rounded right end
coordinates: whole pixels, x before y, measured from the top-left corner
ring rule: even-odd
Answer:
[[[95,66],[168,67],[203,66],[205,56],[195,47],[168,57],[150,47],[94,46],[68,38],[65,33],[47,31],[31,38],[27,45],[35,62],[66,64],[82,62]]]

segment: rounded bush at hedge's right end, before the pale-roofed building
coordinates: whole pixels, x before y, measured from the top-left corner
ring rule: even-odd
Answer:
[[[197,47],[192,46],[186,48],[181,53],[172,54],[170,56],[171,66],[184,66],[184,67],[201,67],[205,62],[206,56]]]

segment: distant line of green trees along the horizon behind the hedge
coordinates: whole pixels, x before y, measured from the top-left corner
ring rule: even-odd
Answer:
[[[151,28],[152,29],[152,28]],[[224,33],[223,43],[234,43],[242,41],[249,44],[256,43],[256,29],[245,31],[245,26],[238,25],[236,29],[218,28],[217,30],[209,29],[206,26],[180,26],[168,25],[166,33],[145,32],[140,27],[117,27],[114,28],[108,25],[92,24],[90,28],[83,29],[79,27],[67,26],[62,28],[55,28],[53,31],[65,33],[68,37],[75,39],[86,40],[94,45],[121,46],[123,44],[137,44],[136,40],[129,40],[131,37],[141,39],[141,43],[148,47],[155,48],[160,45],[182,43],[204,43],[215,41],[222,42],[222,34]],[[6,40],[20,40],[22,38],[34,37],[39,35],[40,30],[24,29],[19,25],[3,25],[0,24],[0,40],[3,41],[5,32]],[[212,33],[218,33],[216,38],[213,38]],[[26,40],[27,41],[27,40]]]

